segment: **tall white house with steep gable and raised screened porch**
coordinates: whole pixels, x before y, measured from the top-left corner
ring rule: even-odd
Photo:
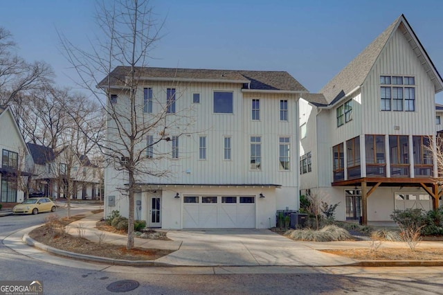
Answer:
[[[363,224],[390,220],[395,208],[437,207],[437,165],[426,147],[441,127],[442,89],[401,15],[320,94],[300,99],[301,194],[339,203],[336,219]]]

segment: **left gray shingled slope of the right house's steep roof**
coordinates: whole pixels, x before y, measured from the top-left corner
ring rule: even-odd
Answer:
[[[319,91],[324,94],[327,102],[331,103],[337,96],[341,95],[341,93],[350,93],[355,87],[363,84],[374,62],[377,60],[386,42],[388,42],[390,35],[392,35],[392,32],[397,27],[397,23],[401,17],[403,17],[403,15],[395,19],[379,37],[374,39],[352,62],[347,64],[345,69],[332,78],[332,80]]]

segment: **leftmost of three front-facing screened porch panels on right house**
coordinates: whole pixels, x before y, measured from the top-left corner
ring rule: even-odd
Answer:
[[[366,176],[386,176],[385,136],[365,135]]]

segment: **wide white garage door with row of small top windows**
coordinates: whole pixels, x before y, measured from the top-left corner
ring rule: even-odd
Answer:
[[[204,228],[255,229],[255,197],[183,197],[183,229]]]

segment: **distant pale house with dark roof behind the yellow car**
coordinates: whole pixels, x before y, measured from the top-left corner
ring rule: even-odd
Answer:
[[[69,147],[55,151],[51,147],[33,143],[27,145],[35,163],[35,186],[45,197],[66,198],[69,179],[73,186],[71,199],[100,197],[98,168],[91,164],[87,156],[78,156]]]

